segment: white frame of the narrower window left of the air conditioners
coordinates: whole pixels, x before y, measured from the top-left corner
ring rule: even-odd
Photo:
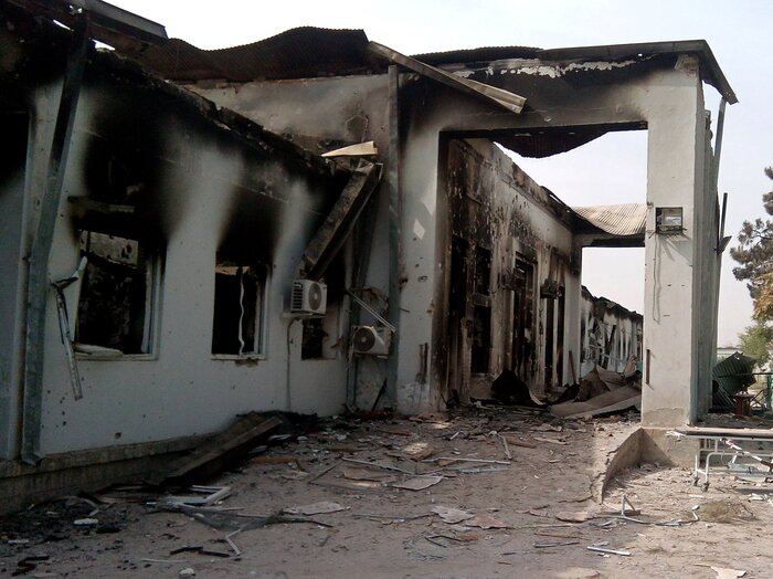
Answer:
[[[265,264],[245,263],[242,261],[232,261],[218,259],[214,267],[215,274],[215,286],[213,288],[212,295],[212,339],[210,341],[210,354],[213,360],[264,360],[267,357],[267,306],[268,306],[268,293],[269,293],[269,267]],[[221,270],[219,272],[218,270]],[[227,273],[225,273],[227,270]],[[255,320],[251,326],[253,326],[253,344],[250,350],[245,350],[246,344],[243,341],[243,322],[242,317],[245,313],[245,307],[243,302],[240,303],[241,316],[240,316],[240,327],[237,330],[237,340],[240,343],[240,351],[236,352],[215,352],[215,333],[218,331],[215,316],[218,315],[218,275],[244,275],[244,272],[251,272],[255,277],[255,304],[254,313]],[[244,280],[244,277],[243,277]],[[240,301],[244,299],[245,292],[242,285],[242,291],[240,293]]]

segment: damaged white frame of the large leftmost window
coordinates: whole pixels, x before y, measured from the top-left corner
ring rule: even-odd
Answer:
[[[100,231],[83,229],[80,231],[81,244],[84,243],[84,235],[91,238],[92,235],[104,235],[113,240],[126,240],[135,242],[138,248],[138,260],[145,263],[145,313],[142,319],[142,337],[140,341],[140,351],[138,352],[126,352],[119,348],[113,346],[106,346],[102,344],[96,344],[94,341],[81,340],[81,307],[84,301],[84,290],[86,285],[86,280],[88,278],[88,273],[84,274],[76,285],[76,297],[75,297],[75,331],[74,331],[74,347],[75,356],[77,359],[87,360],[156,360],[158,359],[158,340],[159,340],[159,320],[161,312],[161,284],[162,284],[162,251],[158,246],[129,236],[124,235],[112,235],[109,233],[103,233]],[[87,242],[88,246],[91,243]],[[81,255],[85,256],[87,260],[86,272],[88,272],[88,265],[94,265],[96,255],[89,259],[89,254],[94,254],[89,249],[81,248]]]

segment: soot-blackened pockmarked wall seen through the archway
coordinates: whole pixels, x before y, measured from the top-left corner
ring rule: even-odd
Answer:
[[[505,369],[538,393],[561,386],[576,350],[568,296],[580,288],[565,207],[488,140],[448,140],[445,181],[446,389],[487,397]]]

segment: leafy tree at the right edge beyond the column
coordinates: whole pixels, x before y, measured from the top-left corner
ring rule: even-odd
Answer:
[[[773,180],[773,167],[766,167],[765,175]],[[773,215],[773,191],[762,196],[762,203],[765,212]],[[738,241],[739,246],[730,250],[730,256],[741,264],[733,267],[733,275],[748,282],[754,318],[773,319],[773,221],[760,218],[744,221]]]

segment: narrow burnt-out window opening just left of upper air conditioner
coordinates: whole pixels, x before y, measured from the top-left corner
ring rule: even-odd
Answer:
[[[222,261],[214,273],[212,354],[265,354],[266,269]]]

